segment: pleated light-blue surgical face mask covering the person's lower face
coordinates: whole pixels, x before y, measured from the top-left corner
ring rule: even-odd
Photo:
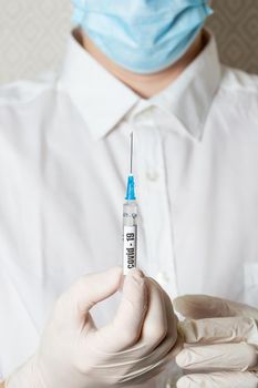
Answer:
[[[72,0],[74,22],[112,61],[136,73],[162,71],[188,50],[209,0]]]

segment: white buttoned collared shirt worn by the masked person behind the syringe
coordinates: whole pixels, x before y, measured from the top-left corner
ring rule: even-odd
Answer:
[[[0,90],[3,377],[35,350],[64,289],[122,264],[132,129],[138,265],[172,298],[205,293],[258,306],[258,78],[221,65],[210,38],[145,101],[71,37],[58,73]],[[96,308],[99,324],[116,302]]]

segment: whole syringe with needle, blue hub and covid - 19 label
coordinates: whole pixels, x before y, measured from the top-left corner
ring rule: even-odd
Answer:
[[[133,133],[131,134],[131,163],[126,190],[126,203],[123,206],[124,275],[137,264],[137,202],[133,175]]]

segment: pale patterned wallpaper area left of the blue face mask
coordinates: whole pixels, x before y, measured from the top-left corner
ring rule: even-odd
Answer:
[[[0,83],[54,68],[70,17],[70,0],[0,0]]]

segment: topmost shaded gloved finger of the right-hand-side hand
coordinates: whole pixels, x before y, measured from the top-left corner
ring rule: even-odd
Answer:
[[[256,308],[207,295],[179,296],[173,304],[175,309],[186,318],[245,316],[258,319],[258,310]]]

